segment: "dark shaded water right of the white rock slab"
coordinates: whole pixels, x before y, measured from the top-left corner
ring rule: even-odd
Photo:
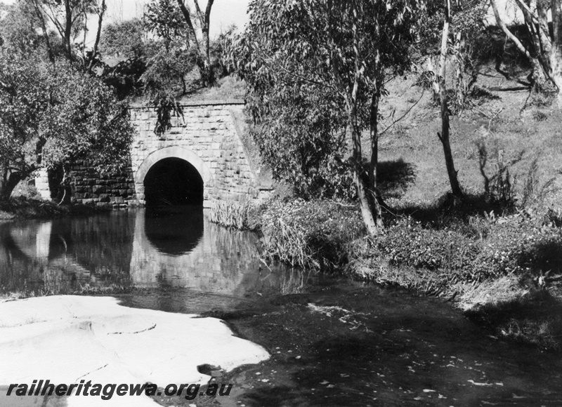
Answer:
[[[272,355],[229,375],[246,406],[560,406],[561,361],[431,298],[339,284],[227,317]],[[227,400],[225,406],[229,406]]]

